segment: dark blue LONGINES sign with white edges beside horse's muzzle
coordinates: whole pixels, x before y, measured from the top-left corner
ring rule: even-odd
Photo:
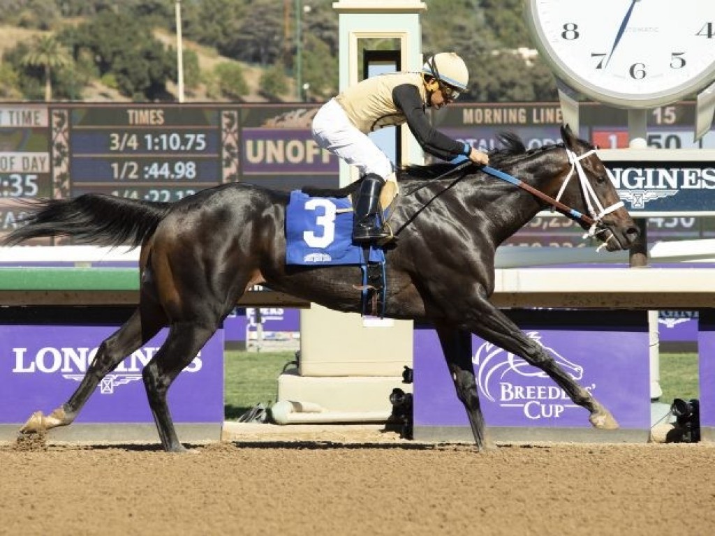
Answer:
[[[715,215],[715,151],[616,149],[598,154],[634,216]]]

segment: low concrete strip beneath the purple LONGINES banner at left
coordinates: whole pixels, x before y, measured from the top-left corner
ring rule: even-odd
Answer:
[[[14,441],[22,425],[0,425],[0,441]],[[177,424],[177,434],[182,443],[213,442],[221,440],[223,423]],[[53,428],[47,432],[48,442],[100,442],[100,443],[157,443],[159,433],[154,424],[117,422],[116,424],[75,423]]]

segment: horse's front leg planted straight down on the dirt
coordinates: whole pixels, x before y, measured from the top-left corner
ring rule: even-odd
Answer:
[[[474,378],[472,334],[440,325],[436,329],[447,361],[447,367],[457,390],[457,397],[464,405],[465,410],[467,410],[467,417],[472,428],[477,450],[493,449],[495,446],[487,435],[484,416],[479,404],[477,384]]]

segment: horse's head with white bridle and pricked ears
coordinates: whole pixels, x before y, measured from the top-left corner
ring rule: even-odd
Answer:
[[[583,229],[606,244],[608,251],[628,249],[638,239],[638,228],[631,214],[623,207],[616,187],[598,158],[596,149],[578,139],[571,129],[561,127],[561,139],[566,149],[558,201],[587,214],[593,225],[578,219]]]

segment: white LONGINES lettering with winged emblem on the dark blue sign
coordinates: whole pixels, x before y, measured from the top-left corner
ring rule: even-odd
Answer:
[[[608,177],[631,209],[644,209],[656,199],[674,197],[686,190],[715,190],[712,167],[608,167]]]

